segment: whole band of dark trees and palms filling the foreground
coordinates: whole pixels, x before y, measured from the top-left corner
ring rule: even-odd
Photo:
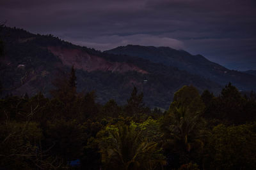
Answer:
[[[77,93],[74,68],[52,98],[0,101],[0,169],[256,169],[256,95],[178,90],[150,110],[134,87],[127,104]]]

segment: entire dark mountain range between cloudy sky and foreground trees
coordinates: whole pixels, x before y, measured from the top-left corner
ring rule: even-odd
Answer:
[[[52,81],[74,65],[77,89],[95,90],[97,101],[115,99],[125,104],[133,86],[144,94],[150,107],[168,108],[174,92],[194,85],[218,94],[228,81],[240,90],[255,90],[256,76],[231,71],[202,55],[169,47],[119,46],[106,52],[72,45],[52,35],[31,34],[1,27],[4,56],[0,58],[2,97],[8,94],[49,96]]]

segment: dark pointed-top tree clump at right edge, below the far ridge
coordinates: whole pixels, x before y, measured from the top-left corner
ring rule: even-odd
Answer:
[[[202,99],[205,99],[205,96],[202,94]],[[217,119],[215,125],[218,122],[238,125],[255,121],[255,101],[243,97],[231,83],[223,88],[219,97],[209,97],[208,102],[205,102],[204,117],[210,121]]]

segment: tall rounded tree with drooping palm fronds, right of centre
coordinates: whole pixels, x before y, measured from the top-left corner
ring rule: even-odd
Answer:
[[[205,135],[205,121],[201,114],[204,103],[195,87],[184,86],[178,90],[164,116],[161,129],[164,132],[164,148],[179,155],[180,163],[188,163],[190,159],[202,153]]]

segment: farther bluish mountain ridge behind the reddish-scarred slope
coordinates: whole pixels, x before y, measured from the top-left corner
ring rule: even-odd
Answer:
[[[202,55],[191,55],[184,50],[175,50],[166,46],[127,45],[118,46],[112,50],[105,51],[105,53],[141,57],[151,62],[177,67],[191,74],[203,76],[220,85],[226,85],[231,82],[239,90],[256,90],[256,76],[253,76],[253,74],[227,69],[220,66],[220,64],[207,60]]]

